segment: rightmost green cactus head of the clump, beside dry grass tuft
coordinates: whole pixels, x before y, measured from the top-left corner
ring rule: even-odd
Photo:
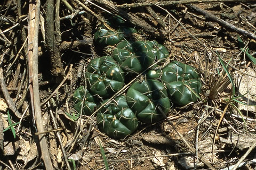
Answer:
[[[173,61],[164,67],[161,80],[166,84],[171,101],[185,106],[195,102],[201,92],[201,81],[194,67]]]

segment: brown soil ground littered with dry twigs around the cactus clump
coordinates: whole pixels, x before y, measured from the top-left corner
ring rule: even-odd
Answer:
[[[255,1],[82,2],[54,3],[60,16],[54,34],[49,25],[58,23],[56,12],[51,22],[49,1],[41,2],[38,83],[49,150],[39,146],[29,95],[29,2],[0,3],[1,169],[44,169],[45,151],[54,169],[67,169],[61,147],[71,169],[225,169],[239,160],[246,163],[241,169],[255,169]],[[75,117],[71,101],[86,84],[88,63],[112,48],[102,49],[93,37],[113,14],[129,16],[135,39],[157,40],[169,62],[194,66],[202,81],[195,103],[173,105],[169,121],[140,123],[124,139],[100,132],[95,116]]]

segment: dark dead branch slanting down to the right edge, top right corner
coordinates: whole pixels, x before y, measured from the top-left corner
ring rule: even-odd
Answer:
[[[237,33],[240,33],[241,35],[245,35],[249,38],[252,38],[252,39],[255,39],[256,40],[256,35],[254,35],[253,33],[251,32],[248,32],[248,31],[245,31],[241,28],[237,28],[235,25],[233,24],[230,24],[224,20],[221,20],[220,18],[218,18],[217,16],[213,15],[212,13],[206,11],[206,10],[203,10],[202,8],[199,8],[197,7],[196,5],[192,5],[192,4],[188,4],[187,5],[191,10],[194,10],[196,12],[199,12],[201,14],[203,14],[205,16],[205,18],[207,19],[211,19],[215,22],[217,22],[218,24],[222,25],[222,27],[225,27],[225,28],[228,28],[228,29],[231,29]]]

